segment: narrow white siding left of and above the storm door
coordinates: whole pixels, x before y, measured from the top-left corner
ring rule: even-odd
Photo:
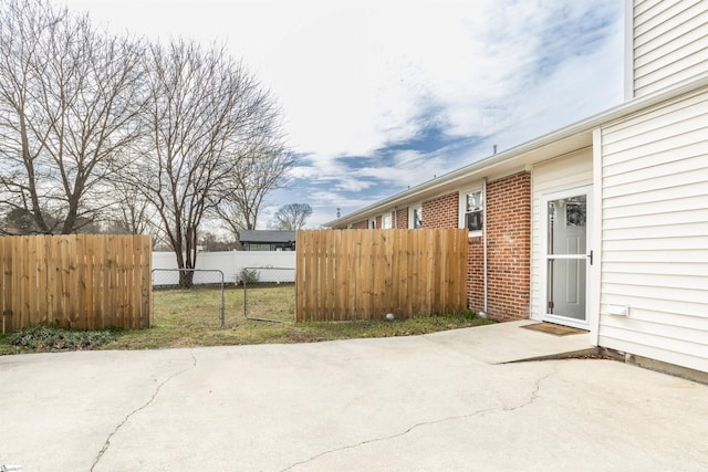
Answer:
[[[531,216],[531,318],[541,319],[544,307],[542,273],[541,198],[544,193],[582,187],[593,181],[593,153],[583,149],[533,167]]]

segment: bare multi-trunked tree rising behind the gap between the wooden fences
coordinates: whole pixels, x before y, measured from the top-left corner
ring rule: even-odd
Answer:
[[[157,210],[180,269],[194,269],[199,227],[218,204],[243,149],[278,109],[270,94],[222,49],[153,45],[147,54],[149,141],[135,185]],[[180,274],[190,286],[192,274]]]

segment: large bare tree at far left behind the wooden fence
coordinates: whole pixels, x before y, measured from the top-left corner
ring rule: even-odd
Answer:
[[[38,232],[75,232],[111,203],[106,177],[139,135],[140,48],[46,0],[0,2],[0,199]]]

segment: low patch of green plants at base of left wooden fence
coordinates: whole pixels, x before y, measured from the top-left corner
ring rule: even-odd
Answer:
[[[110,331],[71,331],[52,326],[32,326],[9,337],[13,346],[39,352],[95,349],[111,340]]]

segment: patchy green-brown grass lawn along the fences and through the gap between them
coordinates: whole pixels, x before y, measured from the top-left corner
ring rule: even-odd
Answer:
[[[148,329],[65,332],[34,329],[0,335],[0,355],[67,349],[157,349],[266,343],[310,343],[365,337],[409,336],[491,322],[471,313],[406,319],[358,322],[294,322],[294,286],[249,289],[247,319],[243,290],[225,291],[225,327],[220,327],[220,293],[216,289],[154,291],[153,327]]]

